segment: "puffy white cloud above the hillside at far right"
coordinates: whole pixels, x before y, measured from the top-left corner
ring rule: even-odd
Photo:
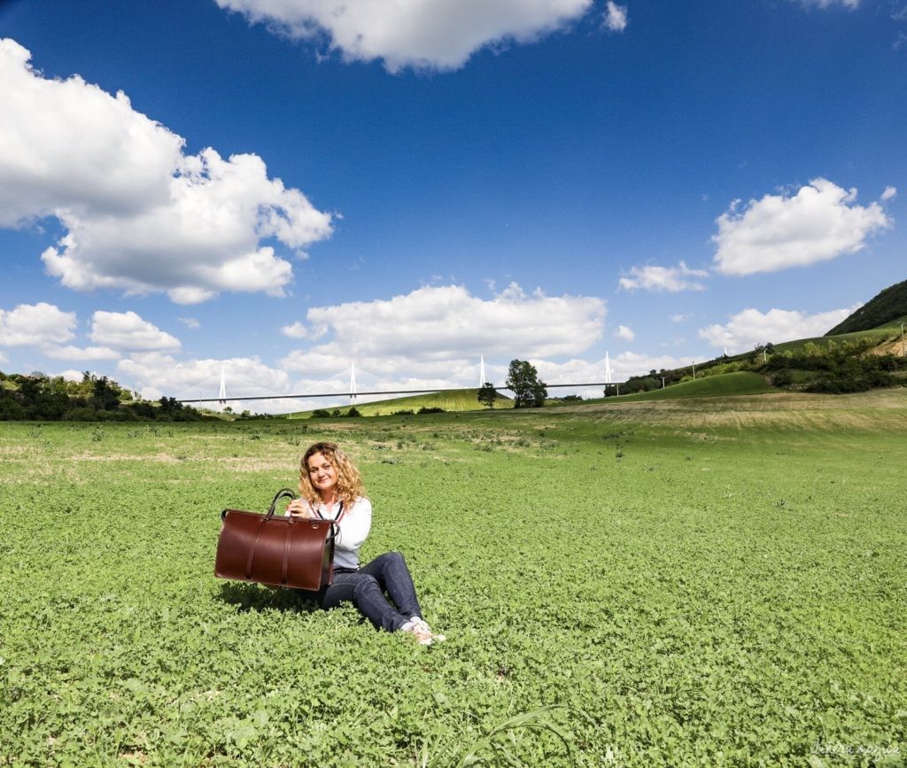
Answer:
[[[884,196],[883,196],[884,199]],[[716,219],[717,270],[726,275],[752,275],[802,267],[866,245],[866,239],[892,220],[878,202],[857,205],[856,190],[815,179],[795,195],[766,195],[739,200]]]

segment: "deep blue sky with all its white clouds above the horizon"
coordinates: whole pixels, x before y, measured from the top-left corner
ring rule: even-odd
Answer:
[[[905,277],[900,0],[19,0],[0,38],[7,372],[619,380]]]

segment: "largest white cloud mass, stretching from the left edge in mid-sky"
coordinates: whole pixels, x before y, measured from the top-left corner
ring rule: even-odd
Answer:
[[[122,92],[46,79],[29,59],[0,40],[0,226],[59,219],[65,234],[42,258],[63,285],[180,304],[224,290],[281,296],[291,264],[262,240],[301,256],[330,235],[330,215],[269,178],[258,155],[186,155]]]

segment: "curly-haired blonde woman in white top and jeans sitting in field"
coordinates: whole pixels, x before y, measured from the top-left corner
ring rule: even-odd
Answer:
[[[288,514],[338,520],[334,579],[317,593],[321,607],[327,610],[349,601],[376,629],[409,632],[426,646],[444,640],[422,617],[403,555],[387,552],[360,568],[359,548],[372,527],[372,504],[365,492],[359,471],[335,442],[316,442],[303,455],[300,498],[289,503]]]

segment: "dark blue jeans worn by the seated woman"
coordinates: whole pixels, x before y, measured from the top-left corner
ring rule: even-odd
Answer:
[[[399,552],[387,552],[355,572],[336,574],[321,598],[321,607],[336,608],[344,601],[353,603],[375,629],[388,632],[403,627],[411,617],[422,616],[413,577]]]

